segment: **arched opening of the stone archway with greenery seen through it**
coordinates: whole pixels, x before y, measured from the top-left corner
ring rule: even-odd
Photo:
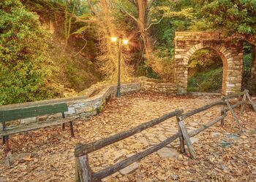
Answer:
[[[222,92],[222,56],[213,48],[195,51],[188,62],[188,92]]]

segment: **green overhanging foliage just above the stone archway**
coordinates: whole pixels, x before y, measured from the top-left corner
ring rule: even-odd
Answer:
[[[196,2],[202,8],[197,14],[200,21],[195,21],[194,28],[220,29],[227,34],[240,33],[255,36],[255,0],[197,0]]]

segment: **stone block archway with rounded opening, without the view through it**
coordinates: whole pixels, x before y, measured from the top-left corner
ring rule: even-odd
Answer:
[[[241,91],[243,70],[242,41],[227,40],[222,33],[176,32],[174,80],[181,94],[187,93],[189,58],[197,50],[215,50],[223,63],[222,94]]]

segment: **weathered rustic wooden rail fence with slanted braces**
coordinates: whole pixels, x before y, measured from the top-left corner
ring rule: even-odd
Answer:
[[[243,98],[241,101],[233,105],[230,104],[231,98],[240,98],[241,95],[243,95]],[[134,127],[124,132],[120,132],[116,135],[112,135],[108,138],[103,138],[99,141],[94,141],[86,144],[78,143],[78,145],[75,147],[75,181],[86,181],[86,182],[101,181],[102,178],[105,178],[109,175],[112,175],[113,173],[116,173],[117,171],[123,169],[124,167],[131,165],[133,162],[136,162],[142,159],[143,157],[148,156],[154,151],[158,151],[159,149],[162,149],[163,147],[167,146],[171,142],[175,141],[177,138],[179,138],[179,141],[180,141],[181,153],[184,153],[185,151],[184,145],[186,144],[190,157],[195,159],[196,158],[195,150],[193,149],[192,143],[189,138],[199,134],[200,132],[202,132],[203,130],[206,130],[208,127],[211,127],[217,122],[220,122],[221,125],[223,125],[225,116],[227,116],[227,111],[231,112],[238,126],[241,127],[241,123],[238,117],[236,116],[235,112],[233,111],[233,108],[236,108],[237,106],[241,106],[241,113],[242,113],[244,111],[244,106],[246,104],[246,98],[249,100],[249,103],[252,105],[252,107],[256,111],[256,106],[252,102],[252,98],[249,96],[248,90],[244,90],[244,92],[225,96],[222,98],[222,100],[197,108],[193,111],[189,111],[185,114],[183,114],[184,113],[183,110],[177,109],[176,111],[170,112],[169,114],[165,114],[163,116],[160,116],[157,119],[153,119],[149,122],[140,124],[137,127]],[[203,124],[201,127],[197,128],[196,130],[193,130],[192,132],[187,132],[184,124],[184,119],[187,119],[189,116],[193,116],[194,114],[198,114],[202,111],[206,111],[209,108],[212,108],[214,106],[221,106],[221,116],[217,117],[216,119],[210,122],[207,122],[206,124]],[[225,108],[225,106],[227,106],[227,108]],[[176,119],[177,119],[178,132],[170,136],[169,138],[167,138],[165,141],[162,141],[161,143],[158,143],[155,146],[151,146],[150,148],[146,149],[145,151],[141,151],[138,154],[134,154],[131,157],[128,157],[127,159],[122,160],[121,162],[117,162],[116,164],[110,167],[106,167],[103,170],[99,170],[96,173],[94,173],[89,167],[89,157],[88,157],[89,153],[93,151],[97,151],[98,149],[102,149],[102,147],[108,146],[112,143],[116,143],[118,141],[124,140],[125,138],[128,138],[132,135],[135,135],[138,132],[146,130],[148,127],[153,127],[154,125],[164,122],[166,119],[170,119],[174,116],[176,116]]]

